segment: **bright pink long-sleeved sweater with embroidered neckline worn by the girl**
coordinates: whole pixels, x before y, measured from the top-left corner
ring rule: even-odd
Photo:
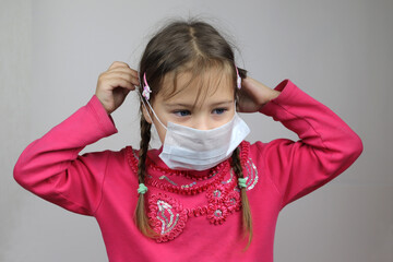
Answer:
[[[118,132],[95,95],[24,150],[14,178],[43,199],[94,216],[110,261],[273,261],[279,211],[342,174],[362,152],[359,136],[293,82],[284,80],[275,90],[281,95],[261,112],[300,140],[240,145],[253,221],[246,252],[229,160],[207,171],[174,171],[158,158],[159,150],[152,150],[146,207],[160,237],[141,235],[133,222],[138,151],[126,146],[79,155],[84,146]]]

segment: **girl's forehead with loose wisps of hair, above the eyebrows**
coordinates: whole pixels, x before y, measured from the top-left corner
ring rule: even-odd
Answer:
[[[212,69],[203,73],[168,73],[158,96],[167,103],[183,100],[193,106],[207,100],[235,99],[234,76],[229,70]]]

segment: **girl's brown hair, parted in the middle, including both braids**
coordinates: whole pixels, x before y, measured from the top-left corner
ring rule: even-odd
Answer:
[[[190,82],[192,82],[193,80],[199,81],[201,75],[204,75],[205,72],[209,72],[212,69],[221,69],[225,72],[229,69],[234,82],[234,95],[237,97],[237,74],[235,69],[235,56],[231,46],[210,24],[196,20],[190,20],[171,22],[155,34],[155,36],[148,41],[142,55],[139,72],[141,80],[143,80],[144,73],[146,74],[147,83],[152,90],[150,102],[153,104],[154,97],[159,92],[165,92],[163,93],[165,97],[172,96],[179,92],[176,88],[176,75],[178,73],[190,72],[192,75]],[[243,69],[238,70],[240,76],[246,78],[247,71]],[[163,91],[160,90],[160,86],[164,78],[169,74],[174,78],[174,90]],[[141,88],[140,92],[142,92]],[[196,99],[199,98],[200,97],[196,97]],[[142,112],[142,102],[140,108]],[[140,183],[143,183],[146,177],[145,163],[150,140],[151,124],[142,116],[138,165],[138,177]],[[237,177],[243,178],[239,148],[236,148],[233,153],[231,167]],[[252,219],[246,188],[241,188],[241,203],[243,229],[245,234],[249,234],[249,246],[252,239]],[[148,225],[143,194],[140,194],[139,196],[135,210],[135,222],[138,228],[145,236],[156,236]]]

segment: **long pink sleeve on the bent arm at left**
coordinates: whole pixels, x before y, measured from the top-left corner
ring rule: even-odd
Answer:
[[[111,117],[93,95],[85,106],[23,151],[14,167],[14,178],[43,199],[93,215],[102,198],[110,151],[83,156],[79,153],[117,132]]]

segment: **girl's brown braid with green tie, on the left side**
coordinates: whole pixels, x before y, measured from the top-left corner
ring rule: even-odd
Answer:
[[[143,183],[146,177],[146,157],[148,151],[148,142],[151,140],[151,127],[143,117],[141,117],[141,143],[139,152],[139,163],[138,163],[138,182]],[[155,236],[155,231],[148,225],[148,218],[145,211],[145,198],[144,194],[140,193],[138,199],[138,204],[135,209],[135,223],[140,231],[147,236]]]

